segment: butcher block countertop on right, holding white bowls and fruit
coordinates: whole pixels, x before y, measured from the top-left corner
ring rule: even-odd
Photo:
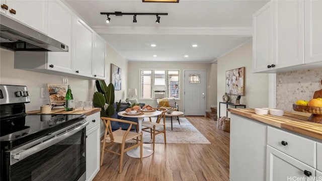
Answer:
[[[322,140],[322,124],[307,121],[310,117],[310,114],[308,113],[293,113],[285,111],[283,116],[273,116],[255,114],[254,109],[229,108],[228,111],[268,125]]]

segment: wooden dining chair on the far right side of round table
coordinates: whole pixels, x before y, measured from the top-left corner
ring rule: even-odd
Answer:
[[[162,113],[158,115],[156,122],[153,122],[151,118],[149,118],[149,121],[143,121],[142,131],[148,132],[151,134],[151,139],[153,140],[153,151],[154,151],[154,145],[155,145],[155,136],[158,134],[163,133],[165,138],[165,144],[167,144],[167,135],[166,135],[166,115],[167,112],[166,108],[153,108],[153,110],[161,111]],[[159,127],[163,127],[162,129],[156,129]]]

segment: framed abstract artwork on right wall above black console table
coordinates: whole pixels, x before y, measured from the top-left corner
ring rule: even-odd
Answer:
[[[245,67],[226,71],[226,93],[245,96]]]

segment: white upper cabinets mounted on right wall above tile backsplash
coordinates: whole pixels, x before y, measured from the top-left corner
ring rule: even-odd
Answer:
[[[310,64],[322,62],[320,8],[321,1],[304,4],[304,0],[273,0],[254,14],[253,72],[276,73],[322,66]]]

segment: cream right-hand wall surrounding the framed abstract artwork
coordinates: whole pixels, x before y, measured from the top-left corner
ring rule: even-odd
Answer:
[[[247,108],[268,107],[268,74],[252,73],[252,49],[252,41],[249,41],[217,59],[218,106],[225,94],[225,72],[245,67],[245,96],[241,97],[240,104]]]

